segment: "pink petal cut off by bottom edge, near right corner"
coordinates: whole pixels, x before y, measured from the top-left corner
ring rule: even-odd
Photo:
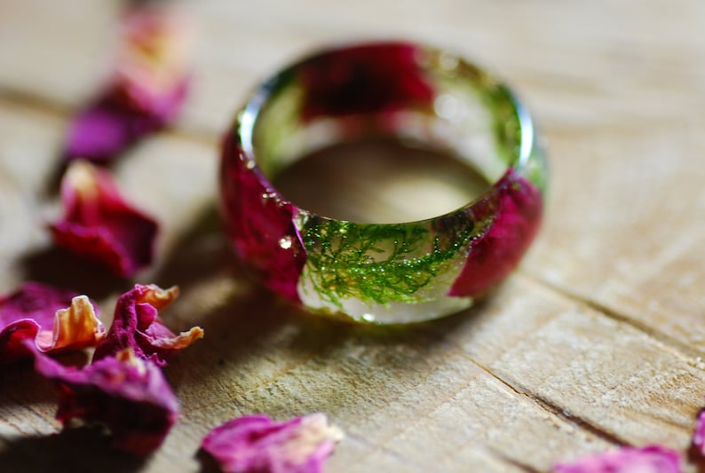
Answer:
[[[558,463],[558,473],[680,473],[678,453],[661,445],[643,448],[623,447],[582,457],[570,463]]]

